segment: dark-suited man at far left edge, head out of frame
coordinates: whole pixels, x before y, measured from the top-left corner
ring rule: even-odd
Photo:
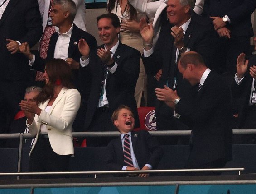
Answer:
[[[8,133],[8,120],[19,112],[19,102],[29,84],[29,66],[19,45],[34,46],[42,35],[37,0],[7,0],[0,3],[0,133]]]

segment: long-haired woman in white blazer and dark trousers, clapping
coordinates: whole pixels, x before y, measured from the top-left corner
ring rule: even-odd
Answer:
[[[29,133],[36,135],[29,153],[29,171],[67,171],[74,154],[72,124],[80,93],[72,89],[72,70],[62,59],[48,61],[43,77],[46,85],[35,98],[38,106],[36,102],[20,102]]]

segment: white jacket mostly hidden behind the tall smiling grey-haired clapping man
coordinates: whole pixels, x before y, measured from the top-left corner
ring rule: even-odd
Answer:
[[[162,11],[167,7],[168,0],[159,0],[155,2],[145,2],[143,0],[129,0],[129,2],[137,11],[141,13],[155,14],[155,18],[153,20],[153,46],[155,46],[161,29],[161,26],[159,25],[159,17]],[[193,10],[200,15],[203,12],[203,5],[204,0],[196,0],[195,8]]]

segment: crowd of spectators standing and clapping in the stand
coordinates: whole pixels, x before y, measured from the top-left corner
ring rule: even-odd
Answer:
[[[72,131],[118,129],[121,141],[88,138],[87,146],[110,143],[110,169],[148,170],[162,150],[148,133],[132,130],[140,126],[137,108],[150,105],[157,130],[192,130],[190,139],[159,139],[189,144],[188,168],[223,167],[232,159],[232,129],[256,129],[255,8],[255,0],[109,0],[108,13],[97,17],[97,46],[85,31],[82,0],[2,0],[0,133],[27,127],[36,136],[30,171],[64,171],[74,154]],[[130,119],[121,121],[120,112]],[[27,118],[20,126],[17,113]],[[140,164],[140,152],[131,150],[133,164],[123,165],[113,150],[125,152],[135,136],[147,154]],[[3,148],[15,145],[0,140]],[[40,163],[42,156],[55,166]]]

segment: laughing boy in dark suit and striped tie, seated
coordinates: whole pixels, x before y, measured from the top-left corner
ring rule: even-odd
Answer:
[[[121,133],[121,139],[120,137],[113,139],[108,144],[107,169],[111,171],[156,169],[163,150],[147,131],[133,131],[135,120],[131,109],[124,105],[119,106],[112,115],[112,122]],[[148,174],[139,176],[145,177]]]

